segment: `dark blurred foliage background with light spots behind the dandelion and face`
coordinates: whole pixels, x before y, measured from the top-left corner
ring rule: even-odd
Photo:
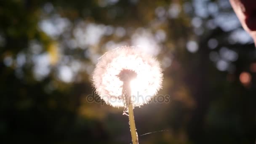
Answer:
[[[123,108],[87,101],[122,45],[157,56],[171,97],[134,109],[140,144],[255,143],[256,50],[228,0],[1,0],[0,143],[131,143]]]

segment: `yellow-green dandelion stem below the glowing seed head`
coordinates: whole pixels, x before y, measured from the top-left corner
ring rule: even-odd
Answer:
[[[138,134],[136,132],[134,115],[133,115],[133,104],[129,104],[128,112],[129,112],[129,121],[130,121],[130,129],[131,129],[131,139],[133,141],[133,144],[139,144]]]

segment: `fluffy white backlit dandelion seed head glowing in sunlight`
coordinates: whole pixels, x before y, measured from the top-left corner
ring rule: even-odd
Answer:
[[[107,104],[124,107],[123,81],[130,79],[134,106],[148,103],[162,86],[159,62],[136,47],[120,47],[108,51],[93,72],[93,86]]]

